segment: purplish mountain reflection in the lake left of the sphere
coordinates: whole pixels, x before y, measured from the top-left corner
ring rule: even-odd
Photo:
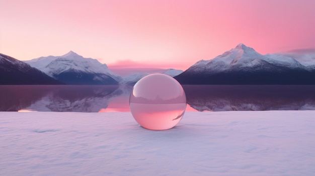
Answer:
[[[129,89],[91,85],[0,86],[0,111],[99,112],[114,98],[125,96]]]

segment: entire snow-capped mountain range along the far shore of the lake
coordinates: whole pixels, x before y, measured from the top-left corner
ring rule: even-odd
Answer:
[[[283,54],[261,55],[244,44],[210,60],[200,60],[186,71],[168,69],[181,84],[315,84],[315,55],[299,59]],[[106,64],[73,51],[62,56],[19,61],[0,54],[0,84],[135,84],[148,73],[113,73]]]

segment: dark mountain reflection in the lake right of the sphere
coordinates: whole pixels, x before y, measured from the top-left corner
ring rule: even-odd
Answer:
[[[198,111],[315,110],[314,85],[186,85]]]

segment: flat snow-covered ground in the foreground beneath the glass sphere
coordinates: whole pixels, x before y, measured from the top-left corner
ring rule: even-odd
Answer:
[[[315,111],[187,112],[165,131],[130,112],[0,117],[0,175],[315,173]]]

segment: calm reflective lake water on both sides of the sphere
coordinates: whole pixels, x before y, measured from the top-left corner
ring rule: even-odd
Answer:
[[[187,111],[315,110],[314,85],[185,85]],[[0,111],[124,112],[132,86],[1,85]]]

